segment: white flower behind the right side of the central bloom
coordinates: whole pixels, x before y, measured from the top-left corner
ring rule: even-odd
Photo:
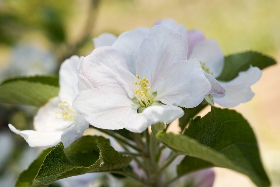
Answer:
[[[254,93],[250,86],[255,84],[262,76],[258,67],[250,67],[247,71],[229,81],[217,81],[224,66],[224,56],[219,44],[213,39],[205,39],[204,34],[199,30],[182,29],[182,24],[177,25],[173,19],[159,20],[157,25],[165,25],[170,29],[184,33],[188,41],[188,59],[197,58],[205,71],[206,78],[212,85],[211,94],[214,101],[223,107],[235,107],[240,103],[251,100]]]

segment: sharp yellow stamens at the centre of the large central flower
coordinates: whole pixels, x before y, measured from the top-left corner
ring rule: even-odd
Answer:
[[[139,75],[136,75],[138,82],[134,82],[136,89],[134,90],[134,94],[136,98],[139,100],[139,103],[143,107],[151,106],[153,103],[152,95],[150,94],[150,87],[148,87],[149,80],[146,77],[140,79]]]

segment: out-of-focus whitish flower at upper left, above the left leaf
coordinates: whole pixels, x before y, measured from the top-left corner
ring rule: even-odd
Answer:
[[[56,68],[57,60],[51,52],[40,45],[22,43],[13,48],[10,65],[2,70],[1,80],[18,76],[53,74]]]

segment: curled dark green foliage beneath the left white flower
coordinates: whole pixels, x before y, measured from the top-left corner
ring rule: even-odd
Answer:
[[[66,177],[118,171],[127,167],[131,158],[115,151],[108,142],[104,137],[85,136],[66,149],[59,144],[49,153],[46,150],[33,162],[36,164],[32,163],[22,172],[16,186],[46,186]]]

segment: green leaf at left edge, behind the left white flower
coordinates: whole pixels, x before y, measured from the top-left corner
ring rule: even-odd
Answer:
[[[0,102],[41,107],[58,95],[56,77],[22,77],[9,79],[0,85]]]

